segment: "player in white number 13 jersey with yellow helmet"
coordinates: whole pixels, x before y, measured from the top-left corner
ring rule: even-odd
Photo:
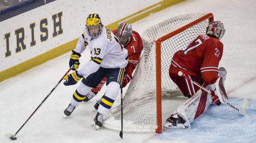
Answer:
[[[86,46],[90,48],[91,60],[82,69],[79,68],[79,58]],[[102,98],[94,121],[97,127],[103,125],[103,116],[112,107],[118,95],[120,84],[124,76],[124,70],[128,63],[128,52],[120,44],[118,38],[106,29],[98,14],[90,14],[86,19],[85,32],[70,57],[70,67],[75,72],[64,77],[64,85],[74,85],[82,79],[81,84],[76,88],[71,103],[65,109],[65,115],[69,116],[79,104],[86,98],[86,94],[92,88],[96,88],[103,77],[107,77],[107,89]]]

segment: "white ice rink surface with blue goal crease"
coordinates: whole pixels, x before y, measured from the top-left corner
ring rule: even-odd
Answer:
[[[119,132],[106,128],[95,131],[91,127],[97,113],[94,111],[94,103],[103,95],[105,86],[98,96],[89,102],[82,102],[71,116],[63,119],[63,111],[68,107],[72,94],[79,84],[64,86],[62,81],[20,130],[16,136],[17,140],[5,138],[6,133],[15,134],[18,131],[68,71],[70,52],[0,83],[0,142],[255,142],[255,7],[254,0],[187,0],[132,23],[133,30],[142,34],[152,25],[171,17],[212,12],[214,19],[223,22],[226,29],[221,39],[224,54],[219,67],[225,67],[228,72],[225,82],[227,94],[230,102],[238,108],[242,104],[242,98],[249,100],[247,116],[240,115],[227,105],[212,105],[191,124],[191,128],[163,129],[162,134],[124,133],[124,138],[121,139]],[[80,33],[77,33],[77,36],[79,35]],[[86,49],[80,58],[80,66],[89,58],[90,53]],[[124,88],[124,92],[127,87]],[[184,97],[163,100],[163,124],[170,113],[185,100]],[[120,94],[113,107],[119,103]]]

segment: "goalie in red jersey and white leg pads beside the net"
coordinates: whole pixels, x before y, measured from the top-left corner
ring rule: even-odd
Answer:
[[[184,96],[189,99],[182,103],[170,118],[166,120],[166,128],[187,128],[201,115],[211,103],[220,105],[218,96],[215,95],[214,83],[219,76],[226,79],[227,71],[221,67],[219,61],[223,53],[223,44],[220,42],[224,35],[224,24],[220,21],[211,22],[206,34],[199,35],[188,45],[185,50],[177,51],[171,61],[169,75],[171,80],[180,88]],[[193,85],[177,73],[182,71],[196,83],[210,89],[208,94]]]

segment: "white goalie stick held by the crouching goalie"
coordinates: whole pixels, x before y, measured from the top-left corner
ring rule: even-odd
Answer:
[[[201,89],[205,90],[207,93],[211,94],[210,90],[206,89],[205,87],[203,87],[203,86],[197,84],[196,82],[194,82],[193,80],[191,80],[189,77],[187,77],[185,74],[183,74],[182,71],[179,71],[178,75],[184,77],[185,79],[192,82],[193,84],[195,84],[199,88],[201,88]],[[218,80],[216,81],[216,83],[218,83],[218,85],[215,85],[217,95],[221,95],[221,98],[218,96],[220,102],[221,103],[226,103],[229,107],[231,107],[232,109],[235,109],[237,112],[239,112],[240,114],[245,116],[246,115],[246,110],[247,110],[248,105],[249,105],[249,101],[246,98],[244,98],[243,103],[242,103],[242,108],[241,109],[236,108],[228,100],[226,90],[225,90],[224,85],[222,83],[222,77],[219,77]]]

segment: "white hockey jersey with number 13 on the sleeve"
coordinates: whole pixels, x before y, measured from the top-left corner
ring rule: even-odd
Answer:
[[[75,51],[81,54],[87,45],[91,51],[91,60],[79,70],[80,75],[86,77],[96,72],[99,67],[125,68],[127,66],[128,51],[121,46],[118,38],[109,29],[103,27],[102,33],[97,38],[92,38],[85,29],[77,42]]]

